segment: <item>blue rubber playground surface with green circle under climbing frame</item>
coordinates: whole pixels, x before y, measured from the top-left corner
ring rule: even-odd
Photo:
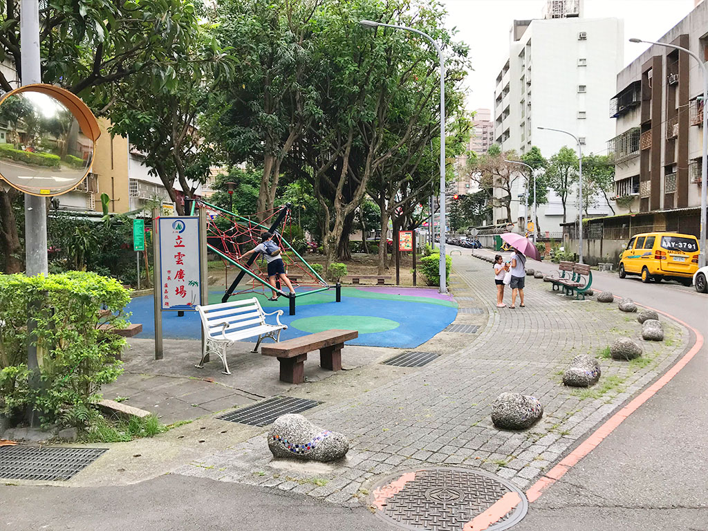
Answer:
[[[210,304],[221,302],[222,295],[221,291],[210,292]],[[263,295],[245,293],[231,300],[254,296],[265,312],[283,310],[280,321],[287,324],[287,330],[281,333],[281,341],[322,330],[349,329],[359,332],[357,339],[348,342],[353,345],[414,348],[445,329],[457,316],[457,303],[452,297],[430,288],[343,287],[341,302],[335,302],[332,288],[297,297],[294,316],[288,315],[285,297],[270,302]],[[152,295],[135,297],[127,311],[132,312],[131,322],[142,324],[142,333],[136,337],[154,338]],[[274,315],[265,319],[275,323]],[[168,339],[199,339],[199,314],[185,312],[183,317],[178,317],[177,312],[162,312],[162,331]]]

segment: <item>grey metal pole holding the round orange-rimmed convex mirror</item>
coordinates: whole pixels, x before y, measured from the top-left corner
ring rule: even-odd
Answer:
[[[40,11],[38,0],[22,0],[21,13],[21,83],[23,85],[41,83]],[[25,275],[33,277],[36,275],[47,275],[48,273],[47,200],[46,198],[25,194]],[[33,312],[30,309],[30,314],[31,313]],[[27,331],[30,336],[27,348],[27,367],[33,372],[30,385],[35,388],[41,385],[37,359],[37,338],[33,333],[36,325],[36,321],[30,318],[27,323]],[[28,421],[30,426],[37,426],[38,416],[35,411],[28,411]]]

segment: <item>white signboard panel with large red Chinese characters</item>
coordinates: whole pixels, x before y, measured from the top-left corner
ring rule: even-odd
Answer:
[[[157,222],[161,309],[181,312],[194,310],[206,302],[202,302],[199,285],[199,217],[160,217]]]

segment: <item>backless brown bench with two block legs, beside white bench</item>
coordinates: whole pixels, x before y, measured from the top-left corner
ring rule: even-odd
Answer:
[[[319,348],[320,367],[341,370],[344,342],[358,337],[359,333],[355,330],[326,330],[288,339],[278,345],[264,346],[261,354],[278,358],[282,382],[302,384],[305,381],[304,361],[307,360],[307,353]]]

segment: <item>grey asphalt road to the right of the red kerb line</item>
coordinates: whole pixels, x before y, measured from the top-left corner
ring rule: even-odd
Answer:
[[[554,269],[535,262],[529,267]],[[597,272],[593,287],[661,309],[708,338],[708,295],[693,287]],[[704,344],[674,379],[532,503],[514,530],[708,531],[707,355]]]

